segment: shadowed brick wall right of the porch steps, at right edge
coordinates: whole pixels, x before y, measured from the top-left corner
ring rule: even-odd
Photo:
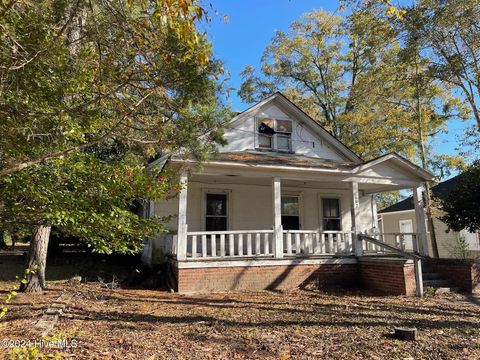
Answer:
[[[426,264],[460,290],[468,293],[480,292],[480,261],[429,259]]]

